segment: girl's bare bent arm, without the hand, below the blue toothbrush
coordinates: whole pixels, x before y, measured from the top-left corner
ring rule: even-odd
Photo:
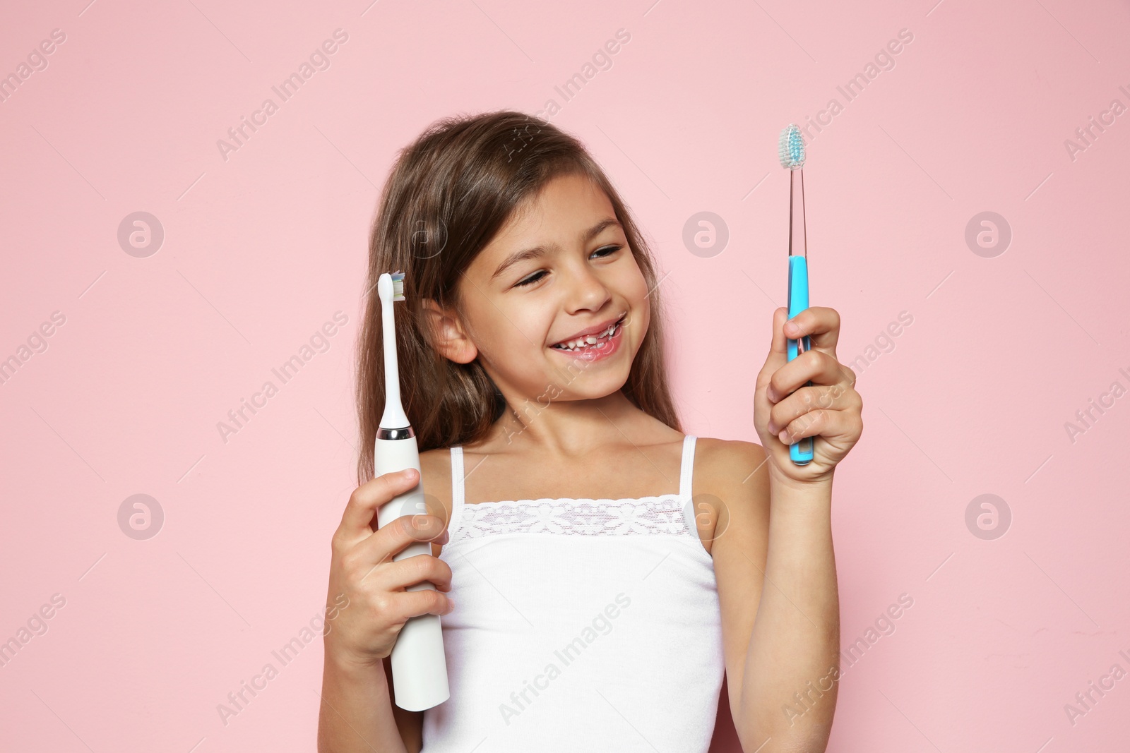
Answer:
[[[707,441],[696,513],[715,518],[711,554],[738,738],[747,753],[822,752],[840,653],[831,483],[771,484],[760,446]]]

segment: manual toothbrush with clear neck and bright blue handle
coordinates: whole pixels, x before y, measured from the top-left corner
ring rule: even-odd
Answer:
[[[805,243],[805,140],[800,129],[790,123],[781,131],[777,142],[781,167],[789,170],[789,318],[808,308],[808,246]],[[811,343],[806,334],[789,339],[789,360],[807,352]],[[811,386],[811,379],[806,386]],[[789,457],[797,465],[812,459],[812,437],[802,437],[789,445]]]

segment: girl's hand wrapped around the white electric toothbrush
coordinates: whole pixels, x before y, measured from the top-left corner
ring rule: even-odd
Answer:
[[[392,558],[417,541],[447,542],[445,523],[435,515],[406,515],[373,531],[376,511],[419,480],[415,469],[379,475],[349,496],[341,524],[333,533],[325,651],[358,665],[380,666],[392,653],[400,629],[409,618],[447,614],[452,602],[451,567],[432,554],[393,562]],[[421,581],[436,590],[406,590]],[[341,607],[341,595],[346,606]],[[332,623],[330,604],[337,604]]]

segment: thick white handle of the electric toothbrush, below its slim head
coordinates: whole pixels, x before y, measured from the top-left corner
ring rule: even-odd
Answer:
[[[375,475],[394,473],[405,469],[420,471],[420,456],[416,437],[405,439],[376,439],[373,455]],[[376,514],[377,528],[382,528],[403,515],[426,514],[424,505],[423,473],[420,483],[398,494],[382,505]],[[431,554],[432,543],[416,542],[394,554],[400,561],[416,554]],[[424,581],[409,586],[407,590],[435,589]],[[397,706],[407,711],[423,711],[447,700],[447,664],[443,650],[443,630],[438,614],[421,614],[410,618],[400,629],[392,647],[392,684]]]

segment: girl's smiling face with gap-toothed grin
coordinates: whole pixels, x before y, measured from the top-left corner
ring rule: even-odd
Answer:
[[[512,405],[616,392],[651,316],[612,204],[583,175],[550,181],[515,211],[467,269],[460,296],[466,340],[454,360],[477,354]]]

